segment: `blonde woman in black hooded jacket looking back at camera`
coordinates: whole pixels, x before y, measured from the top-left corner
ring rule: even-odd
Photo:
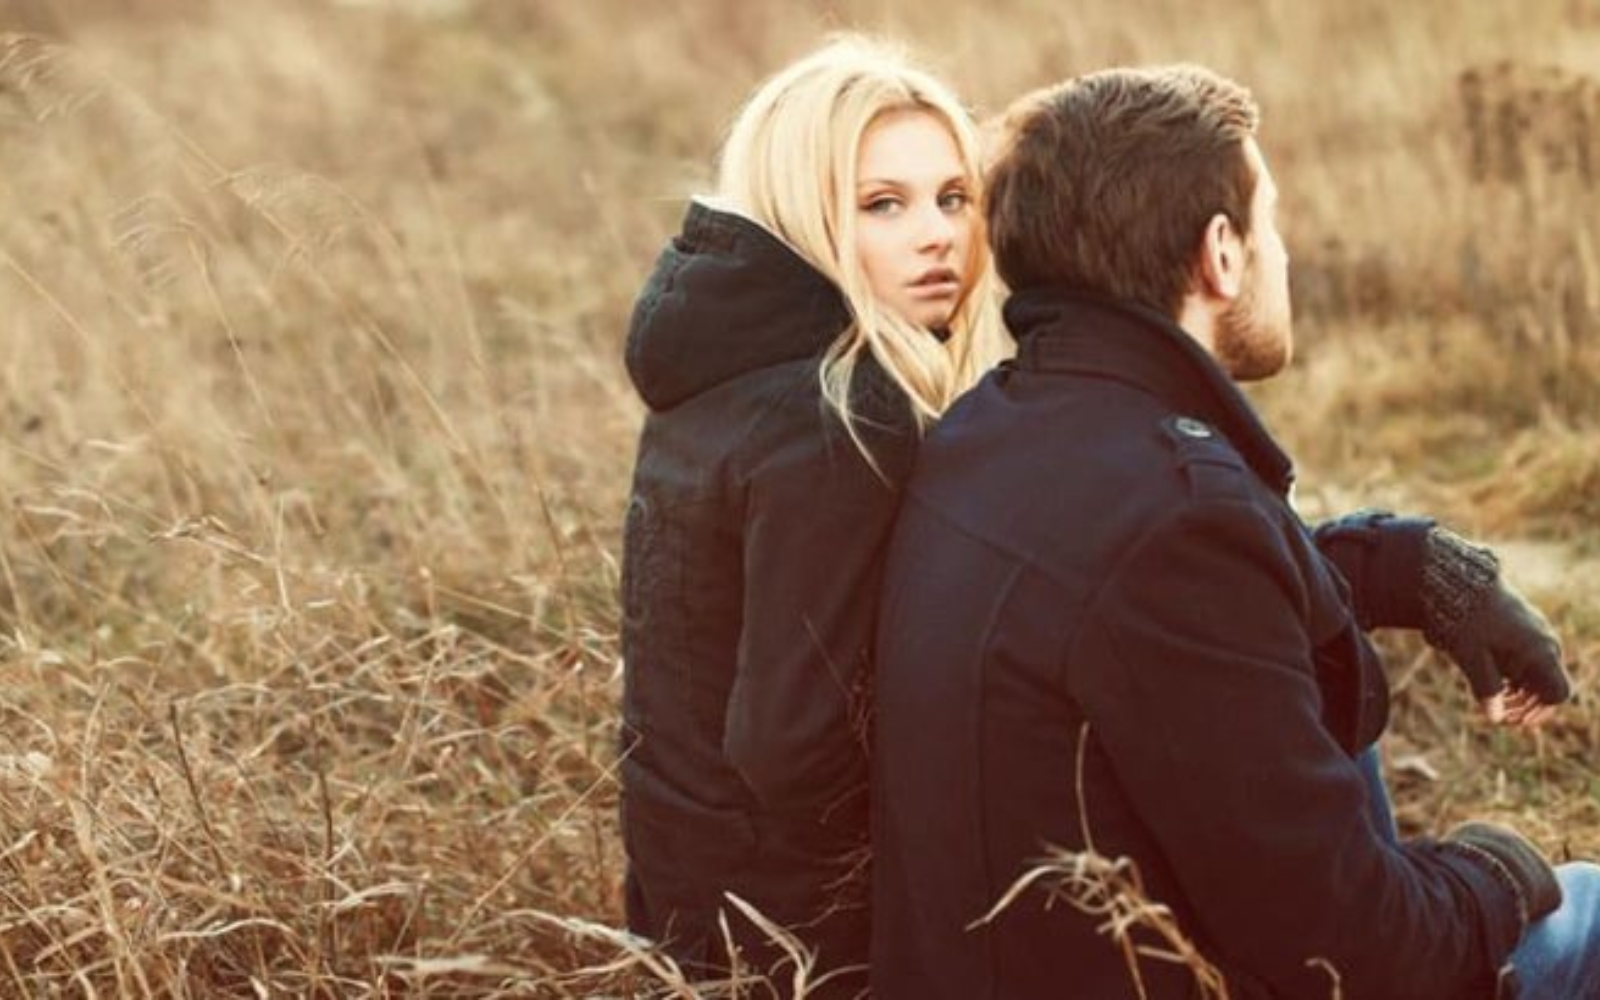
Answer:
[[[634,310],[627,918],[696,974],[867,954],[867,656],[922,429],[1002,357],[974,126],[842,38],[768,80]],[[738,960],[730,955],[738,950]]]

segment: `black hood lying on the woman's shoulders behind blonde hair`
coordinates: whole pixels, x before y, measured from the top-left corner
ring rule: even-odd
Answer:
[[[821,355],[850,325],[838,288],[762,226],[691,202],[645,282],[627,374],[667,410],[747,371]]]

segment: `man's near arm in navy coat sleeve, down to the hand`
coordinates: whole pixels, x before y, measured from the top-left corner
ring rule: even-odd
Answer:
[[[1347,997],[1472,995],[1522,934],[1515,898],[1370,826],[1318,723],[1296,558],[1317,557],[1291,533],[1242,502],[1171,515],[1096,597],[1069,690],[1224,968],[1283,997],[1328,997],[1326,968]]]

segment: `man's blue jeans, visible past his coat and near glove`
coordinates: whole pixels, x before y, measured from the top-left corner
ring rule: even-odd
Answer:
[[[1378,747],[1355,760],[1366,779],[1373,824],[1395,838],[1389,789]],[[1600,866],[1578,861],[1555,869],[1562,906],[1533,923],[1510,954],[1522,989],[1517,1000],[1600,1000]]]

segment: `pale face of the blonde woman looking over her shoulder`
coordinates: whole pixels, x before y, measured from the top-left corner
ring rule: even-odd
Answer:
[[[861,136],[856,253],[872,294],[941,328],[973,282],[978,210],[960,150],[931,112],[896,110]]]

